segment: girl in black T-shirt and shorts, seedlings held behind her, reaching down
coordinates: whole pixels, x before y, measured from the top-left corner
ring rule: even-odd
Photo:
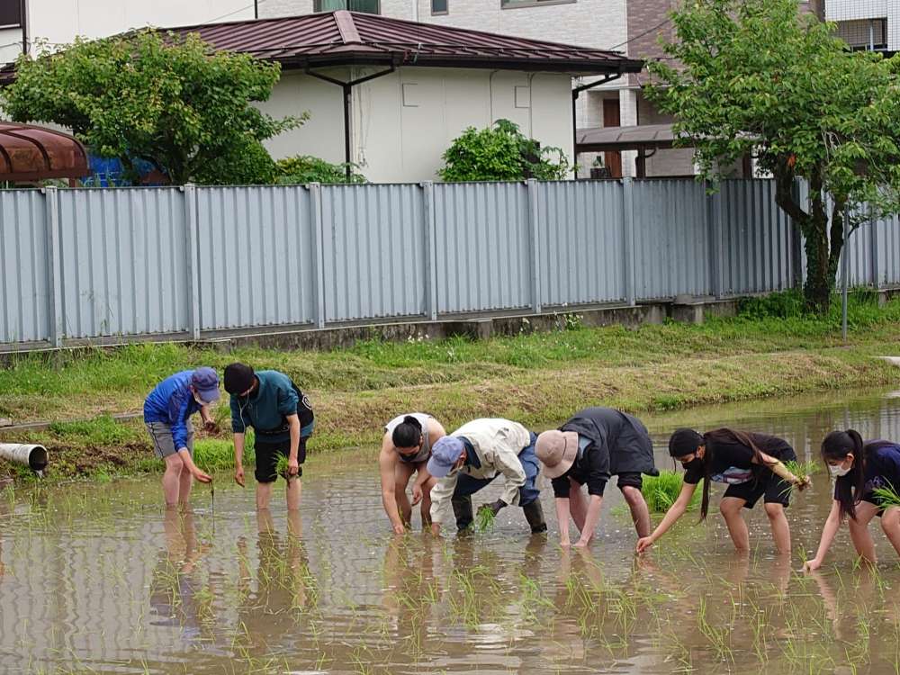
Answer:
[[[782,464],[783,461],[797,459],[794,448],[786,440],[730,428],[707,431],[701,436],[694,429],[681,428],[669,439],[669,454],[684,466],[684,484],[678,499],[653,534],[638,540],[639,554],[684,515],[701,480],[703,500],[700,517],[704,519],[709,509],[709,483],[727,483],[728,489],[719,502],[719,510],[739,552],[750,550],[750,534],[741,517],[741,509],[752,509],[761,497],[765,502],[775,546],[779,553],[790,552],[790,529],[784,509],[788,507],[791,487],[796,485],[800,490],[805,489],[809,477],[797,477]]]

